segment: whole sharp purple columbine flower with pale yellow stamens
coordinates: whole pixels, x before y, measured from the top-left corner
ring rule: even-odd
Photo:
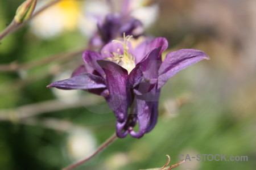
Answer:
[[[144,41],[135,49],[129,38],[109,42],[100,53],[86,50],[82,55],[85,66],[75,70],[72,78],[47,87],[82,89],[104,96],[117,118],[117,136],[130,133],[141,138],[158,119],[160,88],[180,70],[209,57],[200,50],[181,49],[168,53],[162,61],[162,52],[168,47],[165,38]],[[137,122],[139,130],[135,132]]]

